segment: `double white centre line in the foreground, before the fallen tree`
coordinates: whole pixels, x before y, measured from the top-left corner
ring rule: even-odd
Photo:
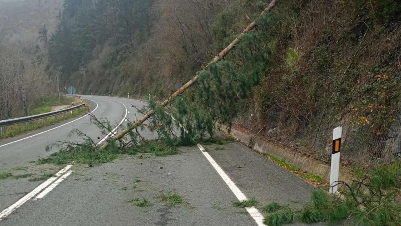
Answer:
[[[24,204],[26,201],[34,197],[37,193],[41,192],[45,187],[49,186],[53,181],[55,181],[58,177],[60,177],[63,173],[65,173],[69,168],[71,168],[72,165],[67,165],[63,169],[61,169],[54,177],[51,177],[47,179],[47,181],[43,182],[41,185],[33,189],[30,193],[26,194],[24,197],[20,198],[20,200],[16,201],[16,203],[10,205],[8,208],[3,210],[0,213],[0,220],[2,220],[4,217],[10,215],[12,212],[14,212],[18,207],[20,207],[22,204]]]

